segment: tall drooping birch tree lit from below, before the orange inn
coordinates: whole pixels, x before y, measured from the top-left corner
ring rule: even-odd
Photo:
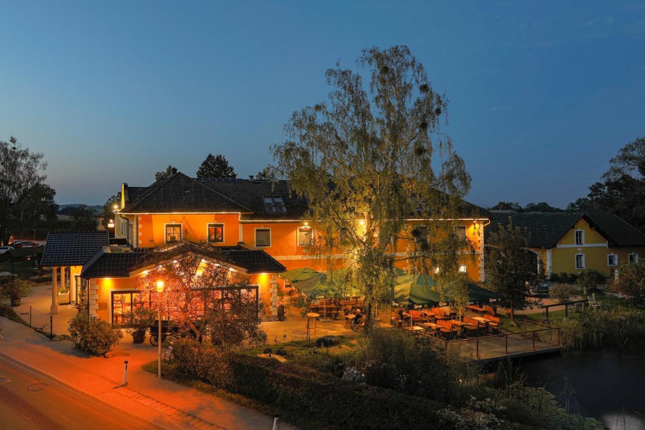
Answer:
[[[369,329],[376,305],[391,303],[395,261],[437,268],[440,282],[457,275],[461,251],[473,245],[456,221],[437,219],[459,218],[471,179],[439,129],[448,100],[406,46],[366,49],[357,66],[369,85],[339,64],[328,69],[329,101],[294,112],[273,156],[279,176],[308,201],[318,232],[310,254],[341,254],[366,298]],[[413,227],[408,218],[421,221]],[[399,240],[408,247],[402,256],[393,252]]]

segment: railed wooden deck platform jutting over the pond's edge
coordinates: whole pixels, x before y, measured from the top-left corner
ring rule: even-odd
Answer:
[[[559,328],[553,327],[435,342],[439,342],[445,348],[446,354],[459,354],[462,358],[475,362],[493,362],[561,351],[559,331]]]

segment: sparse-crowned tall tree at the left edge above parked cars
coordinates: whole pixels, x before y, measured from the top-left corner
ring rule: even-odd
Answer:
[[[23,148],[13,136],[0,141],[1,242],[8,243],[12,230],[41,215],[55,217],[55,192],[45,185],[46,167],[43,154]]]

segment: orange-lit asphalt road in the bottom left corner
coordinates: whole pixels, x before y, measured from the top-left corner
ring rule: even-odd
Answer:
[[[116,409],[0,356],[0,429],[155,429]]]

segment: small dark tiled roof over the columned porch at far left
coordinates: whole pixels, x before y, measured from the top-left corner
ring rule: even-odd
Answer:
[[[52,231],[47,235],[43,266],[82,266],[108,244],[106,230]]]

